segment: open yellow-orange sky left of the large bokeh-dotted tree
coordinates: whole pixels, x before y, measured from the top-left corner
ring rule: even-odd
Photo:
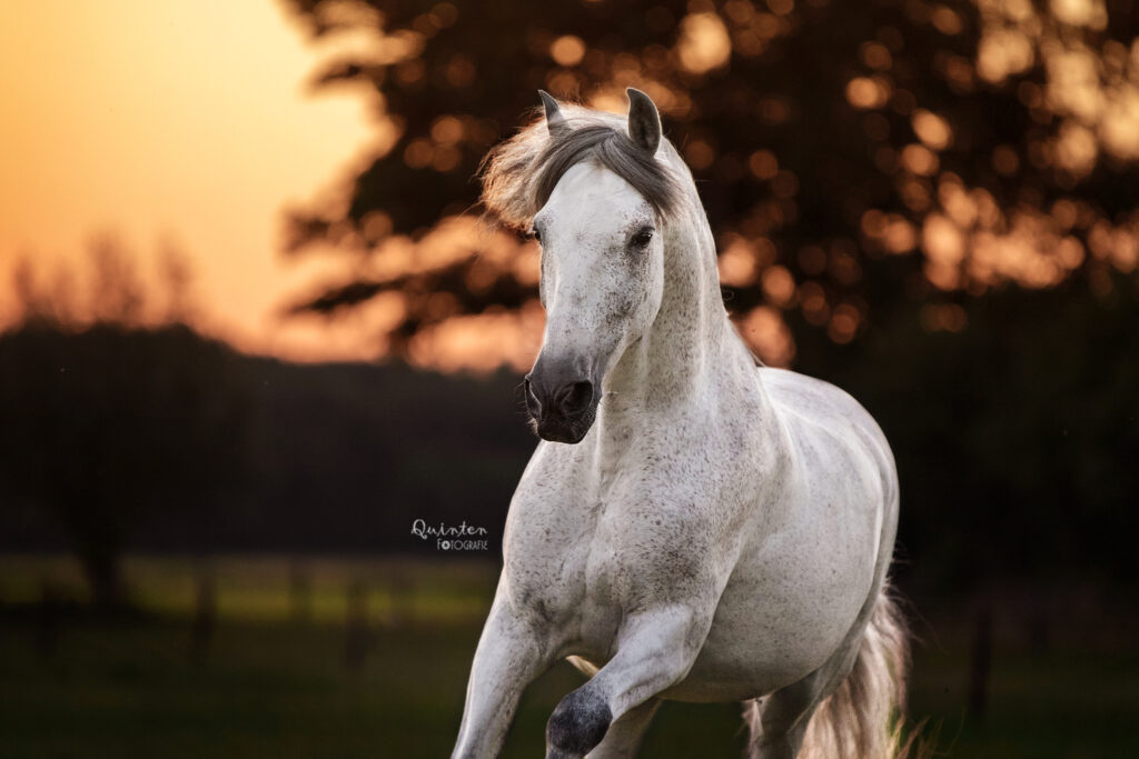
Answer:
[[[277,315],[336,264],[280,253],[285,207],[369,139],[361,98],[306,92],[327,52],[274,0],[0,5],[0,320],[17,258],[82,279],[92,236],[113,233],[145,278],[164,241],[186,251],[211,333],[294,358],[374,355],[351,329]]]

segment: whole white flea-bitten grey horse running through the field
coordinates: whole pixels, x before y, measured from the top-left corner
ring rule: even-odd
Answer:
[[[542,246],[543,439],[452,757],[495,756],[559,658],[590,679],[550,717],[548,758],[634,756],[662,699],[744,701],[753,757],[893,756],[890,447],[842,390],[757,365],[691,174],[628,93],[626,127],[542,92],[544,123],[486,163],[487,208]]]

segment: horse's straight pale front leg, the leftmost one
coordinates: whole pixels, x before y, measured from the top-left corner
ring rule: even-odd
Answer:
[[[547,636],[514,612],[500,589],[478,638],[451,758],[497,757],[522,691],[550,663]]]

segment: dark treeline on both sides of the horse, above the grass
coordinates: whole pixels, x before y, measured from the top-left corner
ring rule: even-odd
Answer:
[[[960,332],[801,345],[798,368],[892,440],[907,585],[1133,583],[1139,294],[1113,287],[1009,289]],[[534,445],[517,382],[295,365],[180,325],[26,324],[0,337],[0,547],[73,548],[108,594],[125,550],[434,551],[415,519],[486,527],[497,556]]]

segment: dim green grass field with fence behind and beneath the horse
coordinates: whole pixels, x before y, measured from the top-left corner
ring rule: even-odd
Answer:
[[[128,569],[145,614],[97,619],[63,603],[44,622],[44,580],[80,597],[75,569],[0,558],[0,757],[448,756],[493,566],[133,559]],[[211,634],[194,622],[198,577],[212,578]],[[366,635],[345,624],[353,584]],[[1126,636],[1054,635],[1029,653],[998,625],[976,720],[965,716],[964,608],[920,609],[910,715],[926,720],[934,756],[1139,756],[1139,653]],[[350,640],[367,642],[354,666]],[[563,663],[535,683],[503,756],[541,756],[550,710],[580,682]],[[737,757],[743,745],[735,704],[670,703],[641,756]]]

